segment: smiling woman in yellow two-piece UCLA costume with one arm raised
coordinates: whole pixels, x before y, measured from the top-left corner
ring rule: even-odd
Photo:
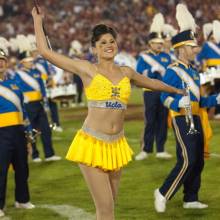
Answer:
[[[115,65],[117,34],[111,27],[104,24],[94,27],[91,45],[98,62],[92,64],[51,51],[42,28],[42,13],[37,14],[34,8],[32,15],[41,55],[54,65],[78,74],[83,81],[88,99],[88,115],[66,158],[79,164],[95,203],[97,220],[113,220],[121,168],[132,156],[123,130],[131,81],[152,90],[180,94],[182,90],[142,76],[129,67]]]

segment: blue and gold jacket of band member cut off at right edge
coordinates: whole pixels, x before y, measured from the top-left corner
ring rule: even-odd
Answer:
[[[212,66],[220,66],[220,44],[205,42],[196,57],[196,62],[203,64],[204,70]]]

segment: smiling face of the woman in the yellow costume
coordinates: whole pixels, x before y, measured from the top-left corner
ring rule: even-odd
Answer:
[[[110,33],[101,35],[99,40],[96,41],[95,47],[93,47],[93,53],[97,55],[98,60],[113,60],[118,53],[118,45],[115,38]]]

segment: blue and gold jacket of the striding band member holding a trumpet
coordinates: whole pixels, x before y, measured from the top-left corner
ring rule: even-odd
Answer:
[[[181,61],[177,60],[176,63],[167,68],[163,82],[178,89],[184,89],[186,84],[189,86],[192,113],[195,115],[199,115],[200,108],[217,105],[217,95],[208,97],[202,97],[200,95],[199,73]],[[185,115],[185,110],[178,107],[181,98],[182,95],[180,94],[161,93],[161,100],[163,104],[171,110],[172,117]]]

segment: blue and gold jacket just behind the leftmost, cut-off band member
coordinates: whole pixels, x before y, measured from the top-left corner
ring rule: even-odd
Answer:
[[[44,82],[41,73],[36,68],[30,70],[17,69],[13,80],[22,90],[27,103],[41,101],[46,98]]]

